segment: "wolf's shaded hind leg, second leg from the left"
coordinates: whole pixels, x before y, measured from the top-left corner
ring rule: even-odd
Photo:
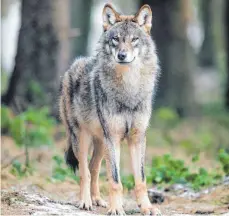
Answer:
[[[107,203],[101,198],[99,191],[99,172],[104,156],[104,145],[98,139],[93,139],[94,150],[90,161],[91,173],[91,198],[92,203],[97,206],[107,207]]]

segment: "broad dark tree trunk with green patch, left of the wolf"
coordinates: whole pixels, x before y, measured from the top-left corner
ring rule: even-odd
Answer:
[[[54,110],[59,86],[58,40],[52,24],[52,0],[22,0],[15,67],[3,102],[20,111],[48,105]]]

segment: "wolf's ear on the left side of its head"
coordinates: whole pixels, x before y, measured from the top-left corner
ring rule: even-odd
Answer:
[[[103,29],[107,31],[112,25],[120,21],[120,14],[110,5],[106,4],[103,8]]]

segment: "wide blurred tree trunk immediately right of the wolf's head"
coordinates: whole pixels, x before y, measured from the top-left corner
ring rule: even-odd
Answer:
[[[183,0],[142,0],[153,12],[152,36],[158,49],[161,78],[157,106],[169,106],[180,116],[193,114],[194,54],[186,36]]]

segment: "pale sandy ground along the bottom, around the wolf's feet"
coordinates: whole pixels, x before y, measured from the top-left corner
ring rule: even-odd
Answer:
[[[65,189],[67,185],[56,186],[55,193],[45,191],[35,185],[14,186],[2,190],[2,215],[91,215],[106,214],[107,209],[94,207],[86,212],[77,208],[74,191]],[[68,191],[69,190],[69,191]],[[75,190],[76,192],[78,191]],[[229,186],[218,186],[209,194],[198,198],[188,198],[165,194],[165,201],[157,204],[163,215],[229,215]],[[69,195],[67,195],[69,194]],[[127,215],[139,215],[139,209],[131,194],[124,196],[124,209]],[[105,197],[107,200],[107,197]]]

